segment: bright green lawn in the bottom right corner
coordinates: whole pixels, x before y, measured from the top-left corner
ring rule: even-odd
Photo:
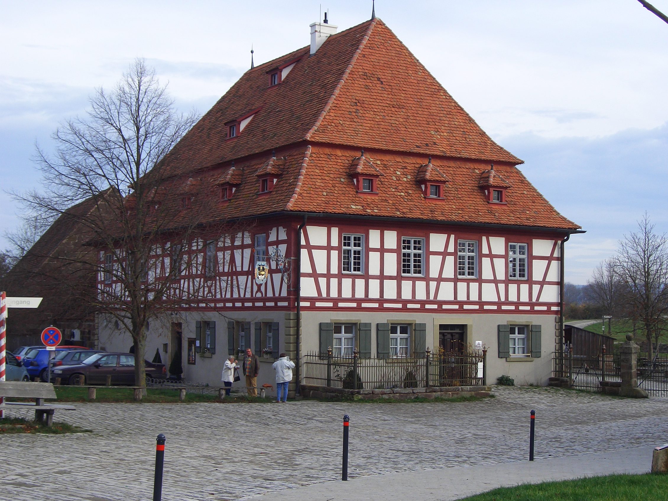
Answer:
[[[668,475],[611,475],[499,488],[462,501],[663,501]]]

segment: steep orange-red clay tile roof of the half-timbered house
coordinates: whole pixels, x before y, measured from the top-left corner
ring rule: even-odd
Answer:
[[[295,58],[285,80],[270,87],[267,70]],[[225,124],[253,110],[243,132],[226,139]],[[373,160],[360,156],[361,148],[373,150]],[[260,194],[257,175],[277,167],[273,150],[285,157],[282,175]],[[434,160],[424,164],[426,156]],[[512,184],[508,204],[489,204],[478,187],[490,161],[494,178]],[[578,229],[522,176],[520,162],[375,19],[331,35],[314,55],[304,47],[246,71],[165,166],[173,176],[200,171],[210,193],[192,208],[206,210],[209,220],[295,211]],[[378,194],[359,194],[351,173],[383,174]],[[231,200],[220,199],[221,180],[238,184]],[[425,200],[420,180],[447,182],[444,200]]]

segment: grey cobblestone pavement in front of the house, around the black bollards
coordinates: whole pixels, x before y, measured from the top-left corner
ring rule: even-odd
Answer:
[[[351,478],[524,459],[530,409],[537,460],[668,438],[668,399],[530,387],[494,394],[464,403],[79,403],[56,420],[93,433],[1,436],[0,490],[15,501],[149,500],[158,433],[167,436],[165,501],[232,500],[333,480],[344,413]]]

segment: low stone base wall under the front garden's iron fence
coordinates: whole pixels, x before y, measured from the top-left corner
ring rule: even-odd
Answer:
[[[301,385],[301,394],[305,398],[341,398],[350,396],[361,400],[413,398],[455,398],[488,397],[492,388],[489,386],[441,386],[431,388],[390,388],[390,389],[341,389],[329,386]]]

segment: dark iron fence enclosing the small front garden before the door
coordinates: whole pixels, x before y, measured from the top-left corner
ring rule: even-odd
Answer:
[[[486,384],[486,351],[426,352],[423,358],[362,358],[308,353],[304,383],[342,389],[424,388]]]

